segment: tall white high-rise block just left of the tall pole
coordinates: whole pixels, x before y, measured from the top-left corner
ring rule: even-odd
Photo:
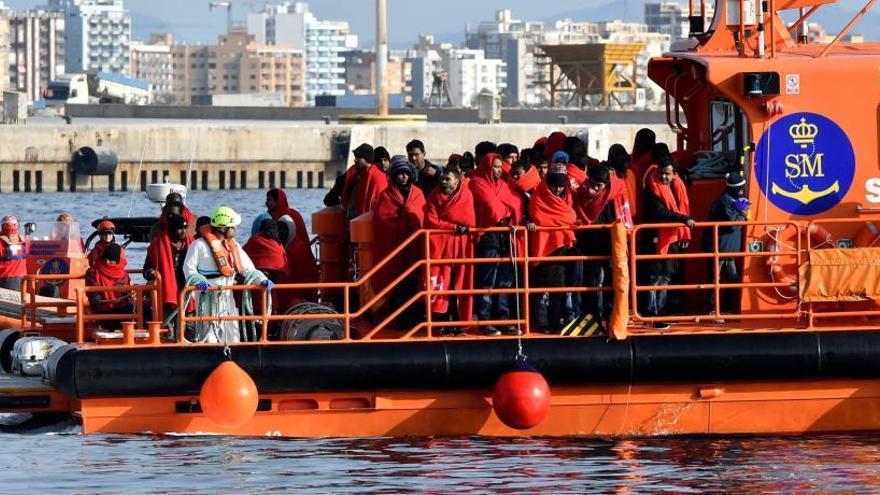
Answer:
[[[316,96],[345,94],[345,57],[357,47],[348,22],[319,20],[305,2],[267,5],[249,14],[248,33],[257,44],[285,46],[305,53],[306,103]]]

